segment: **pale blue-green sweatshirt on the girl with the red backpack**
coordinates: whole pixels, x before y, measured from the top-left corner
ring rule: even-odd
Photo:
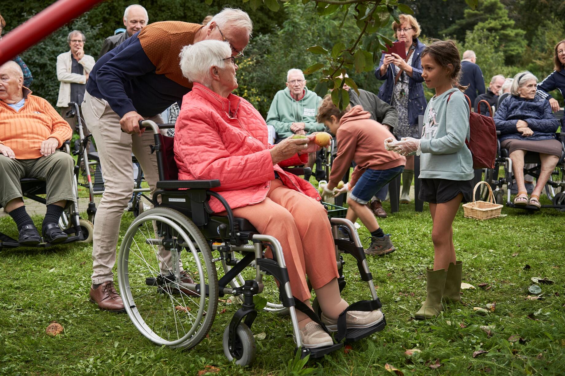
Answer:
[[[447,90],[429,101],[420,141],[420,179],[473,179],[471,151],[465,144],[469,137],[469,111],[467,100],[458,89]]]

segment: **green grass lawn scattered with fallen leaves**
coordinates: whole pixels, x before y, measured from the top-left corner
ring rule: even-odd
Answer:
[[[388,203],[385,209],[389,211]],[[416,213],[412,205],[402,206],[400,213],[380,220],[398,247],[383,258],[369,259],[388,325],[347,353],[310,360],[312,374],[383,375],[389,374],[387,363],[405,375],[565,374],[565,213],[546,209],[530,215],[505,208],[503,214],[507,216],[479,222],[459,211],[455,249],[463,260],[463,281],[476,289],[463,290],[463,304],[449,306],[429,321],[411,319],[425,298],[424,268],[433,262],[428,207]],[[40,217],[34,219],[41,223]],[[131,221],[126,214],[122,236]],[[0,218],[0,229],[16,236],[9,217]],[[364,227],[360,236],[368,236]],[[291,373],[290,320],[267,312],[259,314],[252,328],[254,334],[265,334],[257,340],[255,363],[240,368],[227,362],[221,334],[238,307],[225,302],[219,303],[209,337],[193,350],[154,346],[126,314],[102,312],[89,303],[91,252],[91,244],[77,243],[0,251],[0,374],[195,375],[206,365],[219,368],[218,375]],[[355,263],[345,258],[349,280],[344,298],[368,298]],[[543,299],[526,299],[532,295],[532,277],[554,281],[538,284]],[[494,302],[494,312],[473,311]],[[63,325],[63,334],[45,334],[52,321]],[[414,348],[420,352],[405,354]],[[487,352],[473,357],[480,350]]]

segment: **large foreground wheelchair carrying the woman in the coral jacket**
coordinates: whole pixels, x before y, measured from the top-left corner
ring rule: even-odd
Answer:
[[[344,218],[329,218],[340,291],[346,283],[342,271],[343,254],[347,253],[357,263],[360,278],[368,284],[371,297],[351,304],[341,313],[334,344],[322,348],[302,347],[295,310],[305,312],[319,323],[321,311],[316,299],[312,306],[317,315],[293,297],[279,241],[258,233],[246,219],[233,216],[227,201],[212,191],[220,186],[219,180],[177,180],[173,138],[159,132],[159,127],[173,125],[140,121],[140,126],[154,132],[159,182],[153,194],[155,207],[133,220],[121,242],[118,281],[125,310],[144,337],[158,345],[193,348],[206,337],[214,322],[218,299],[225,295],[242,300],[223,332],[224,355],[238,365],[251,364],[255,358],[251,326],[257,311],[263,307],[266,311],[288,312],[295,351],[299,351],[301,357],[324,356],[343,347],[344,342],[354,342],[384,329],[384,315],[382,321],[370,328],[346,329],[346,311],[373,311],[380,309],[381,303],[353,223]],[[305,172],[304,169],[290,170]],[[207,203],[210,197],[223,204],[227,215],[211,212]],[[272,251],[273,259],[264,257],[267,248]],[[181,253],[190,281],[181,275]],[[164,262],[167,257],[171,260],[168,264]],[[223,266],[225,273],[221,277],[217,270],[222,267],[216,267],[216,263]],[[273,291],[267,291],[268,281],[264,280],[267,276],[278,284]],[[276,302],[271,302],[270,306],[259,304],[257,295],[261,293]],[[273,299],[277,293],[278,299]]]

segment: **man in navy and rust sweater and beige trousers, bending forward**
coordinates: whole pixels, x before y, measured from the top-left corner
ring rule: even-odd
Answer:
[[[93,233],[93,275],[90,300],[100,309],[123,312],[114,287],[112,268],[120,219],[133,193],[131,153],[144,171],[151,195],[159,179],[157,157],[151,153],[152,132],[140,120],[162,123],[160,113],[180,102],[192,82],[179,66],[182,47],[205,39],[229,43],[232,56],[242,55],[253,23],[246,12],[224,8],[207,25],[163,21],[145,26],[97,61],[86,85],[82,111],[94,136],[105,191],[97,209]],[[170,268],[171,254],[159,250],[160,269]],[[191,283],[182,271],[182,282]],[[188,292],[190,294],[190,291]]]

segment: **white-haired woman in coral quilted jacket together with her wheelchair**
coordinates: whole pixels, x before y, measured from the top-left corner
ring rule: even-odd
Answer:
[[[323,356],[343,346],[342,340],[382,330],[386,321],[353,223],[328,220],[316,189],[285,170],[303,165],[318,147],[310,139],[268,144],[259,112],[231,94],[237,65],[229,43],[186,46],[181,69],[194,86],[183,99],[174,140],[160,135],[154,123],[142,122],[153,127],[160,182],[155,208],[134,220],[120,248],[120,291],[134,325],[155,343],[191,348],[210,329],[218,296],[236,295],[244,302],[225,328],[224,353],[249,364],[254,357],[249,327],[257,316],[253,298],[266,292],[262,277],[268,274],[279,286],[280,307],[288,308],[302,356]],[[176,164],[167,152],[172,142]],[[340,229],[349,237],[340,237]],[[181,250],[192,282],[179,273]],[[215,251],[219,257],[212,259]],[[172,254],[170,271],[161,267],[163,252]],[[237,259],[235,252],[244,257]],[[371,300],[348,304],[341,298],[339,252],[354,256]],[[216,262],[225,270],[219,279]],[[254,278],[243,281],[250,270]],[[234,282],[237,278],[244,283]],[[271,299],[277,296],[268,292]],[[337,332],[339,343],[330,331]]]

